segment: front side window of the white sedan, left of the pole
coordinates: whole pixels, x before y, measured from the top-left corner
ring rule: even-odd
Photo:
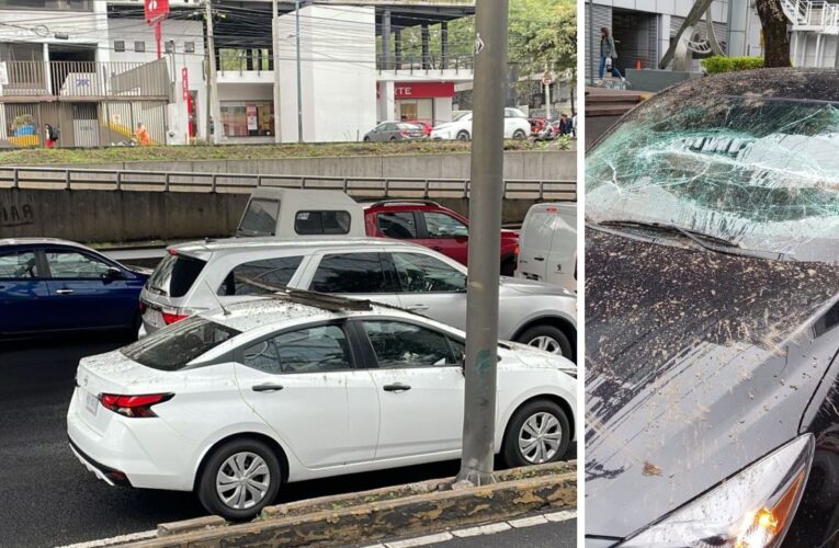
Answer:
[[[362,324],[381,368],[455,364],[447,338],[442,333],[400,321],[362,321]]]

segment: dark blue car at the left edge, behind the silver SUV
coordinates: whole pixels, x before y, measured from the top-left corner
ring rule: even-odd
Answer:
[[[146,277],[78,243],[0,240],[0,339],[86,330],[136,338]]]

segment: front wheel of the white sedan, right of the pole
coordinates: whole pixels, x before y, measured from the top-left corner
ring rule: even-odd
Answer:
[[[501,453],[510,467],[556,463],[565,456],[570,442],[565,411],[551,400],[533,400],[510,419]]]

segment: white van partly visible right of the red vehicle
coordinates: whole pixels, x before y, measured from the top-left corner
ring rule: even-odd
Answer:
[[[536,204],[519,235],[515,277],[577,292],[577,204]]]

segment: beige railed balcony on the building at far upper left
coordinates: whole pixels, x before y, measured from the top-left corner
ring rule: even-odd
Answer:
[[[170,100],[166,60],[152,62],[4,61],[2,102]],[[1,70],[1,69],[0,69]]]

